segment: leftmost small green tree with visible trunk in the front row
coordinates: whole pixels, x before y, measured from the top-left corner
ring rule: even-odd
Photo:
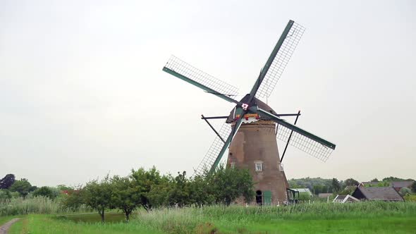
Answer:
[[[103,223],[105,209],[114,208],[111,204],[111,195],[111,182],[108,175],[101,181],[92,180],[88,182],[81,190],[83,202],[98,211]]]

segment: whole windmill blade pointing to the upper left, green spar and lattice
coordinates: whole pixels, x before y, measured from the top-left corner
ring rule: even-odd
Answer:
[[[226,82],[214,78],[212,75],[204,73],[202,70],[185,63],[176,56],[171,56],[162,70],[181,80],[185,80],[191,85],[200,87],[205,92],[209,92],[226,101],[238,104],[238,101],[231,98],[238,94],[238,88],[233,85],[228,85]]]

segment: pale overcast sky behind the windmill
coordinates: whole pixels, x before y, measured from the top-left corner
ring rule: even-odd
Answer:
[[[292,19],[306,31],[269,104],[300,109],[298,125],[337,147],[326,163],[290,147],[288,178],[416,178],[415,12],[415,1],[0,1],[0,177],[191,174],[215,137],[200,114],[233,104],[161,68],[174,54],[243,95]]]

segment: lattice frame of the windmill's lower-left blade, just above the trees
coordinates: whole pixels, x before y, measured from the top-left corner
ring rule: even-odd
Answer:
[[[226,140],[228,135],[231,133],[231,124],[224,123],[220,130],[219,135]],[[211,166],[214,164],[216,157],[218,156],[219,152],[221,151],[222,147],[224,147],[224,142],[216,136],[214,142],[212,142],[211,147],[209,147],[207,154],[205,154],[204,159],[200,162],[200,164],[195,169],[195,173],[197,175],[202,175],[204,170],[209,170]]]

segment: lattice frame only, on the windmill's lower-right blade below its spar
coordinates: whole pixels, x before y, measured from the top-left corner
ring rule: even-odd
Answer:
[[[282,140],[283,142],[288,142],[288,137],[290,136],[290,133],[292,133],[292,136],[290,137],[289,141],[289,144],[291,146],[296,147],[302,150],[303,152],[314,156],[319,160],[326,161],[331,155],[331,153],[334,151],[334,149],[326,147],[324,146],[324,144],[314,141],[300,133],[296,133],[295,131],[286,128],[285,126],[280,125],[279,123],[277,124],[277,139]]]

